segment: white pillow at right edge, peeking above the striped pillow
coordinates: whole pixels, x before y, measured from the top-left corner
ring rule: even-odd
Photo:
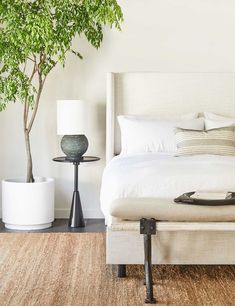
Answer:
[[[235,124],[235,118],[220,116],[210,112],[204,112],[204,116],[206,130],[217,129]]]

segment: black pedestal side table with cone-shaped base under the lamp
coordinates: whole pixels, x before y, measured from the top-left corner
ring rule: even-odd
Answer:
[[[55,157],[53,161],[61,162],[61,163],[73,163],[74,165],[74,191],[73,191],[73,199],[70,210],[69,217],[69,227],[84,227],[85,221],[83,218],[82,206],[80,195],[78,191],[78,166],[80,163],[89,163],[100,160],[99,157],[95,156],[82,156],[80,159],[69,159],[65,156],[63,157]]]

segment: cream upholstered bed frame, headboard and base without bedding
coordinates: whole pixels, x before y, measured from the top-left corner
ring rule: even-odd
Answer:
[[[116,117],[168,117],[209,111],[235,117],[235,73],[109,73],[107,76],[106,158],[120,153]],[[234,182],[235,189],[235,182]],[[143,264],[139,222],[106,217],[107,264]],[[235,222],[157,222],[154,264],[235,264]]]

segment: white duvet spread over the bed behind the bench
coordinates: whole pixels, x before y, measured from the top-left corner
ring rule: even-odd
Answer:
[[[235,157],[165,153],[117,156],[106,166],[101,187],[101,209],[125,197],[175,198],[193,190],[235,191]]]

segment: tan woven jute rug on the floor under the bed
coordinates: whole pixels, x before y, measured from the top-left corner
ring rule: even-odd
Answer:
[[[105,265],[101,233],[0,234],[1,306],[143,305],[143,267]],[[158,305],[235,305],[235,267],[154,267]]]

